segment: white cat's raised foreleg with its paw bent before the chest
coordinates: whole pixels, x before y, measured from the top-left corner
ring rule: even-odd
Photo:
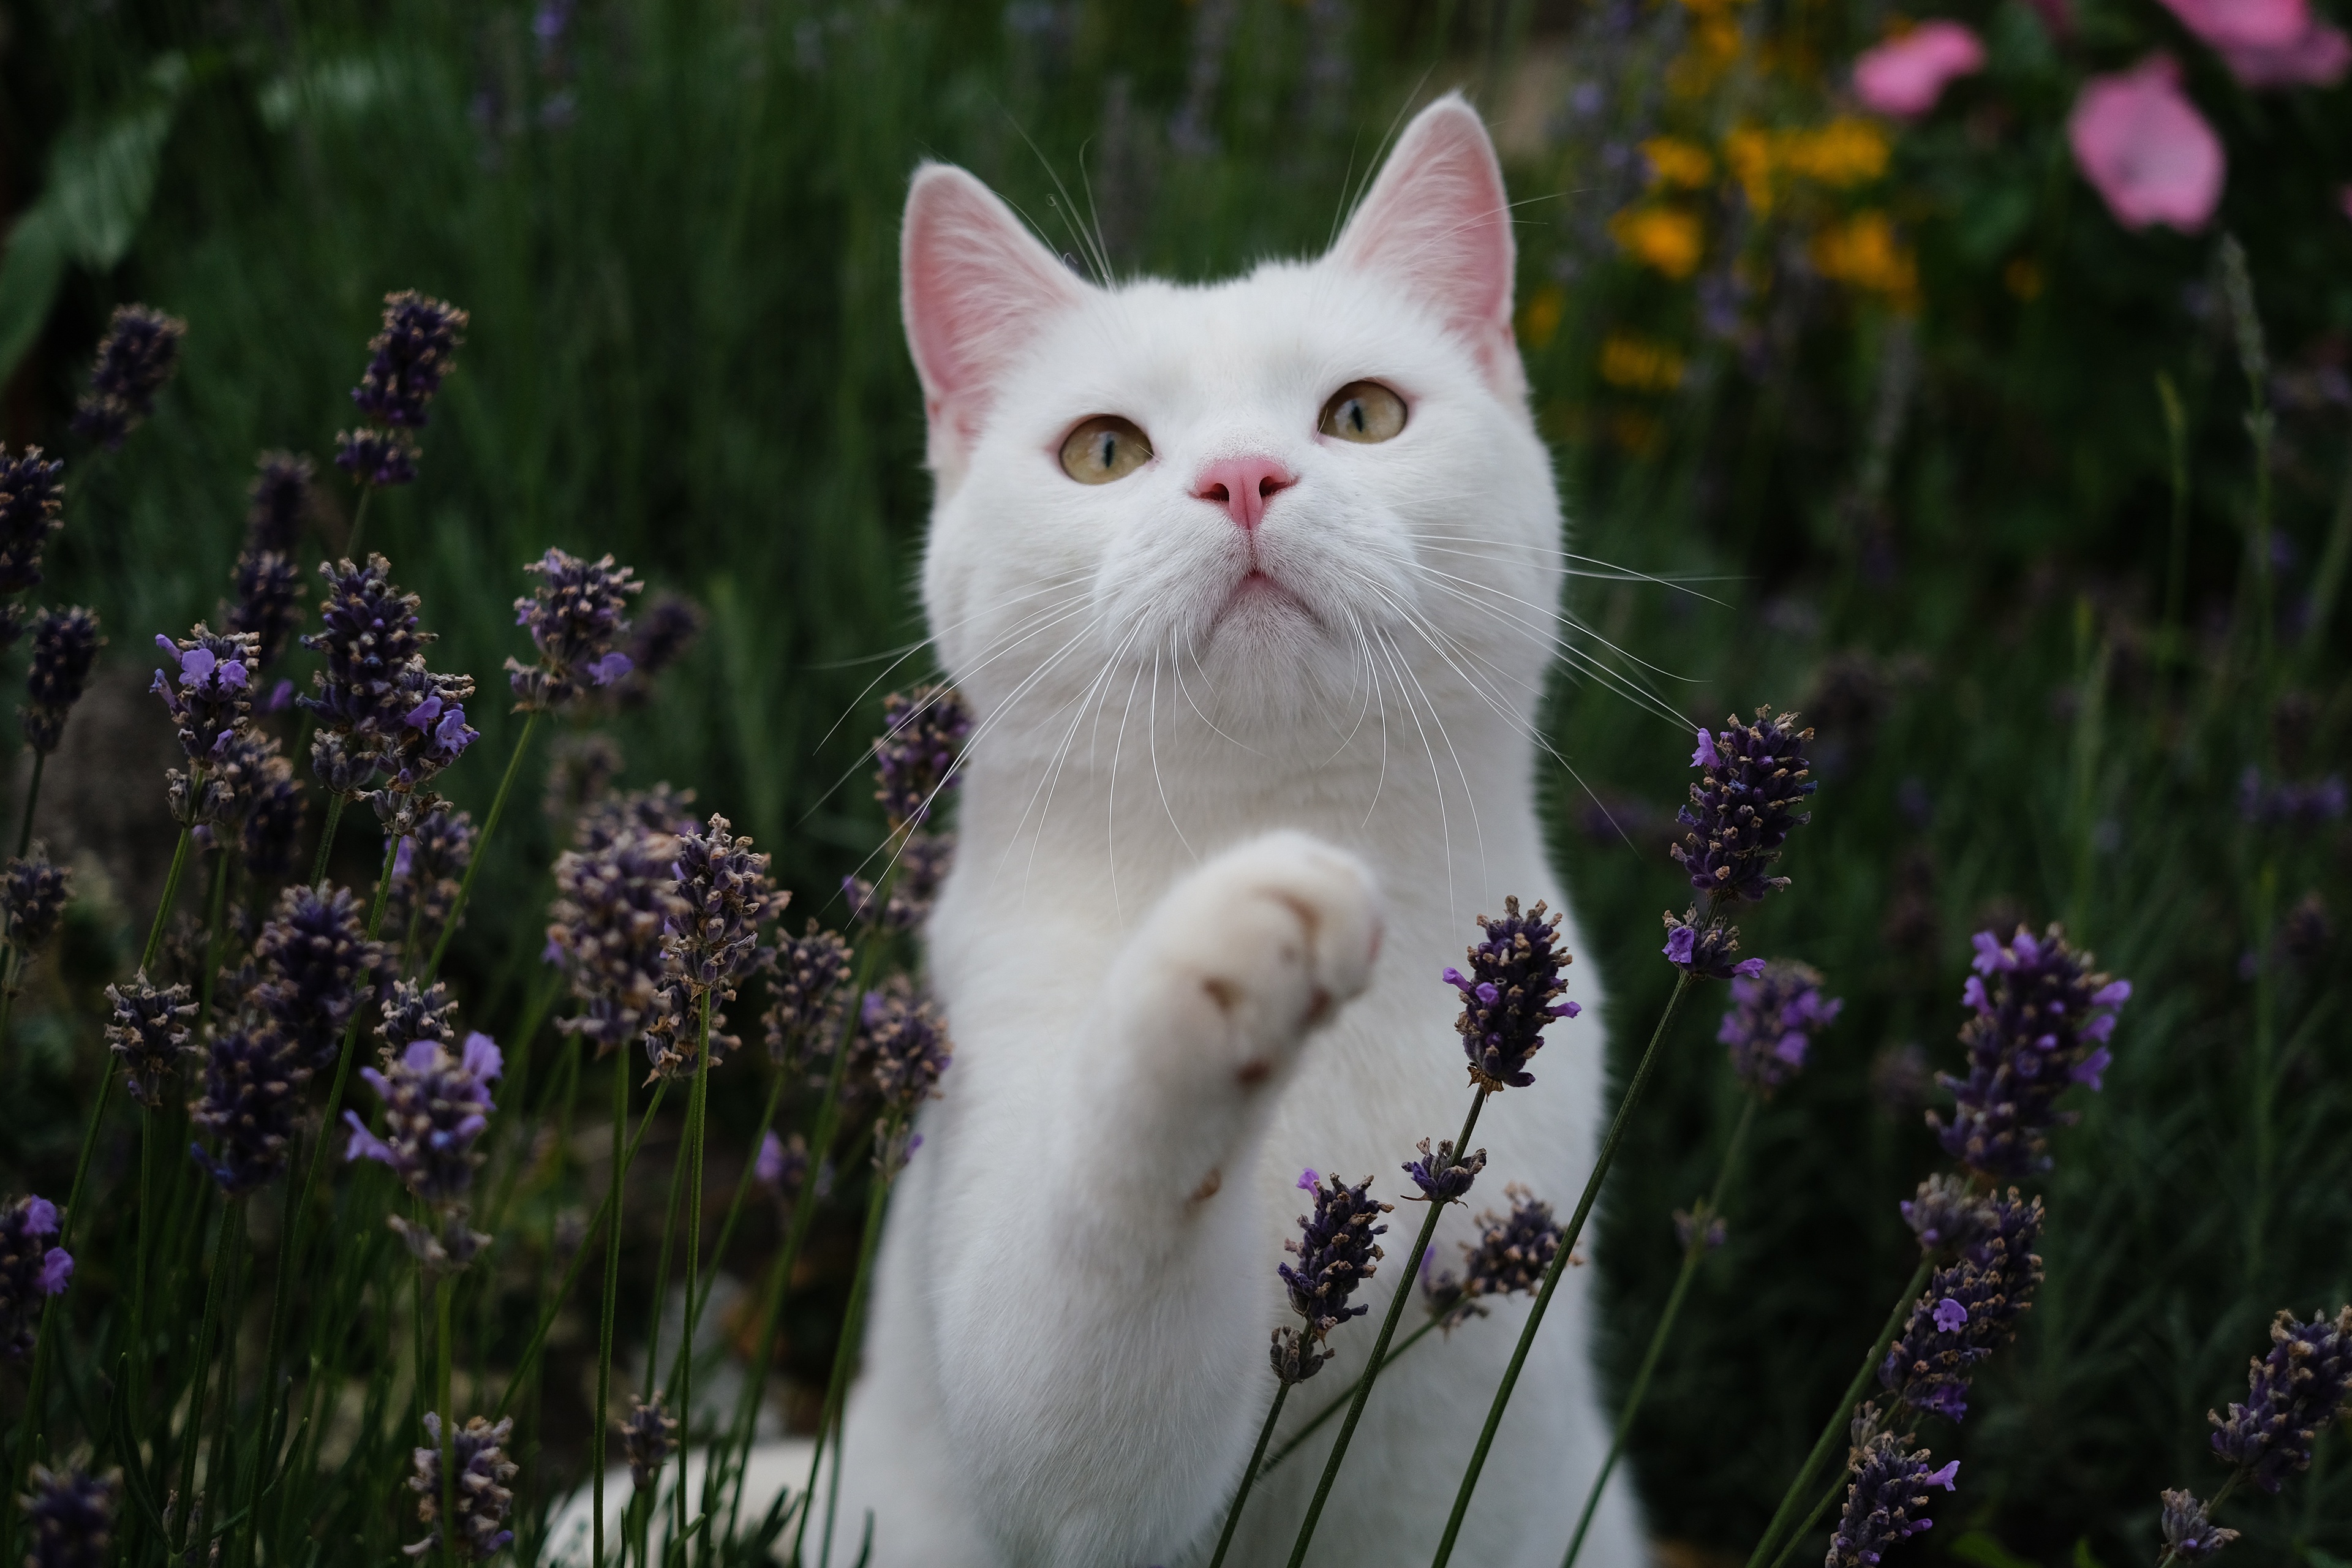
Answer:
[[[1244,1178],[1378,943],[1359,860],[1265,835],[1162,898],[1063,1041],[1030,1175],[990,1208],[993,1274],[941,1321],[946,1422],[1004,1561],[1145,1563],[1223,1502],[1270,1387],[1272,1194]]]

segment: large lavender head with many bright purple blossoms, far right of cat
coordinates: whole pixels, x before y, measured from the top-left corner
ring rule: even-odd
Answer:
[[[1971,966],[1962,1001],[1976,1016],[1959,1032],[1969,1077],[1936,1077],[1957,1105],[1950,1124],[1929,1112],[1929,1126],[1971,1171],[2016,1180],[2049,1168],[2046,1131],[2072,1121],[2058,1095],[2100,1086],[2131,983],[2091,973],[2091,954],[2067,947],[2058,926],[2044,938],[2018,926],[2006,947],[1978,931]]]

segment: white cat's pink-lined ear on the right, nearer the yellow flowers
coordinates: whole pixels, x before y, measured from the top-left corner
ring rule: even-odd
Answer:
[[[1428,301],[1505,397],[1524,390],[1510,339],[1512,254],[1503,167],[1458,92],[1414,115],[1331,247],[1338,266],[1388,275]]]

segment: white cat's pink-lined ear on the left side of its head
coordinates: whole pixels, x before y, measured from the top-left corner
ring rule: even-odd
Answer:
[[[898,235],[898,303],[943,484],[962,477],[1004,367],[1084,292],[995,190],[953,165],[915,169]]]

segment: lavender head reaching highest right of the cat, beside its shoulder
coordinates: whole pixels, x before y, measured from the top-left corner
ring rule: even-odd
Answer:
[[[1755,724],[1733,715],[1731,729],[1698,731],[1691,766],[1703,776],[1675,813],[1689,832],[1672,846],[1693,889],[1717,903],[1759,903],[1788,886],[1788,877],[1764,870],[1780,858],[1788,835],[1813,820],[1795,809],[1818,788],[1804,759],[1811,738],[1811,729],[1797,729],[1797,715],[1771,717],[1771,708],[1757,708]]]

